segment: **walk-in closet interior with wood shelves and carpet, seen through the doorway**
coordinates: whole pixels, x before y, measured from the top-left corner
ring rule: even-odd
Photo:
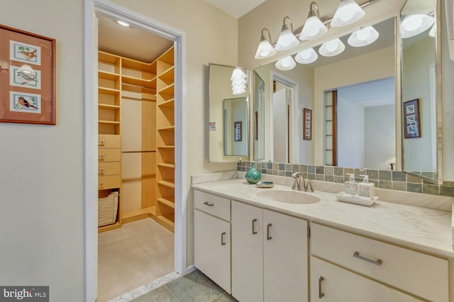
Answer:
[[[174,271],[174,47],[99,18],[98,301]]]

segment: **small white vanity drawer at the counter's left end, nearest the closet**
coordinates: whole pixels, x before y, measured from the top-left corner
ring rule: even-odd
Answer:
[[[194,190],[195,208],[230,221],[230,199]]]

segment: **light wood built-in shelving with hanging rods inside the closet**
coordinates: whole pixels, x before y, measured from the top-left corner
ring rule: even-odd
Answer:
[[[107,135],[118,142],[99,147],[100,163],[110,149],[117,153],[115,172],[108,172],[115,176],[99,174],[105,178],[99,196],[121,192],[115,223],[100,232],[148,217],[174,230],[174,72],[173,47],[150,63],[99,51],[99,140]],[[108,170],[103,166],[100,171]]]

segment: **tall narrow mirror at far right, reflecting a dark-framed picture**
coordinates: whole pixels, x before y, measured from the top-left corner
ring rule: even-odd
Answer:
[[[403,169],[435,182],[441,179],[440,20],[436,0],[407,0],[400,16]]]

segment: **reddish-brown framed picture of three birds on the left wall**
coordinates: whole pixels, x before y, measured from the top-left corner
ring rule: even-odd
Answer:
[[[55,39],[0,25],[0,122],[55,125]]]

